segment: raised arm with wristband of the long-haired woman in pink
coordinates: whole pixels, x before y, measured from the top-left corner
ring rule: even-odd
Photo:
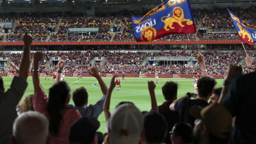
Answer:
[[[43,91],[43,88],[40,84],[39,79],[39,61],[43,58],[42,52],[36,52],[34,54],[34,62],[33,62],[33,70],[32,70],[32,78],[33,78],[33,85],[34,85],[34,92],[40,92]]]

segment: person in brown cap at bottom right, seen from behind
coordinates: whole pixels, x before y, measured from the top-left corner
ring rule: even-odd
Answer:
[[[196,117],[193,130],[194,144],[228,144],[232,131],[232,116],[219,103],[203,109],[191,107],[189,112]]]

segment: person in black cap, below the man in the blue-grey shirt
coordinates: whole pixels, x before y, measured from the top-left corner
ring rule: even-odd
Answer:
[[[100,122],[95,118],[82,117],[76,120],[70,127],[70,144],[97,144],[96,131]]]

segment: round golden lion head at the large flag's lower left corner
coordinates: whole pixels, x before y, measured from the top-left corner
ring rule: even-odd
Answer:
[[[156,29],[152,26],[147,26],[141,31],[142,41],[153,41],[156,39]]]

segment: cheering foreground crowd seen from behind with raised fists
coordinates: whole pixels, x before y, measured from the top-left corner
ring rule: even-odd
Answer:
[[[56,82],[44,89],[39,78],[42,52],[31,54],[32,37],[25,33],[24,51],[18,76],[8,90],[0,77],[0,142],[5,144],[255,144],[256,72],[242,75],[239,66],[230,66],[223,88],[208,76],[205,56],[198,52],[202,78],[194,83],[198,94],[187,92],[178,98],[178,84],[167,81],[162,87],[164,102],[157,105],[153,81],[148,81],[151,107],[140,111],[135,103],[123,99],[113,112],[111,95],[117,76],[109,87],[96,67],[90,67],[98,80],[102,98],[88,105],[83,86],[70,95],[70,87],[61,81],[65,61],[58,62]],[[0,53],[0,55],[3,55]],[[30,58],[33,61],[30,65]],[[249,56],[246,63],[251,64]],[[33,94],[24,96],[28,73],[32,72]],[[86,86],[87,87],[87,86]],[[46,91],[48,96],[46,95]],[[89,90],[88,90],[89,91]],[[25,100],[19,104],[22,97]],[[69,105],[70,100],[74,105]],[[130,99],[131,100],[131,99]],[[111,103],[112,102],[112,103]],[[107,133],[97,132],[98,116],[104,112]],[[233,118],[236,117],[234,120]]]

